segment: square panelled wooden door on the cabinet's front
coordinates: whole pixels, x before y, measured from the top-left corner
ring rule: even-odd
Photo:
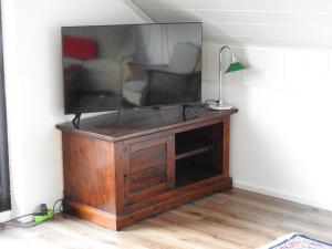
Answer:
[[[123,154],[125,205],[139,203],[174,186],[173,135],[127,144]]]

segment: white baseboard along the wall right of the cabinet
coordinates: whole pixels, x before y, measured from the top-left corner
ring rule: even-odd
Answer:
[[[304,198],[304,197],[300,197],[300,196],[295,196],[295,195],[290,195],[290,194],[277,191],[277,190],[260,187],[260,186],[253,186],[251,184],[245,184],[245,183],[241,183],[238,180],[234,180],[232,184],[234,184],[234,187],[236,187],[236,188],[240,188],[240,189],[245,189],[245,190],[249,190],[249,191],[253,191],[253,193],[258,193],[258,194],[262,194],[262,195],[267,195],[267,196],[272,196],[272,197],[277,197],[280,199],[286,199],[286,200],[290,200],[293,203],[299,203],[299,204],[303,204],[303,205],[308,205],[308,206],[312,206],[312,207],[332,211],[331,204],[328,204],[328,203],[324,203],[321,200],[317,200],[314,198]]]

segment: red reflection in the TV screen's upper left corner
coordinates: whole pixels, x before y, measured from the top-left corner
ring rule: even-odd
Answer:
[[[90,60],[96,56],[96,42],[87,38],[64,35],[62,49],[65,58]]]

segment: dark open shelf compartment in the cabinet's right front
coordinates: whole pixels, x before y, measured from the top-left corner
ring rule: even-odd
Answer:
[[[175,186],[222,174],[222,123],[175,135]]]

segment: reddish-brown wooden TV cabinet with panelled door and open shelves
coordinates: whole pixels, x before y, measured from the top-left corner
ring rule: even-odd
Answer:
[[[118,230],[232,187],[229,121],[237,110],[122,111],[58,125],[64,210]]]

